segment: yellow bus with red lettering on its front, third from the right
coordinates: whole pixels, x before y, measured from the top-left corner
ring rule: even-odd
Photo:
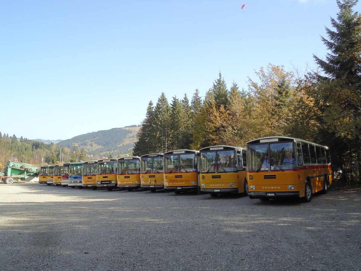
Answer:
[[[199,151],[175,150],[164,153],[164,190],[197,191],[197,160]]]

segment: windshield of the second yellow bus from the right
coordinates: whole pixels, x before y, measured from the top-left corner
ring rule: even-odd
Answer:
[[[201,173],[236,172],[237,154],[235,150],[212,150],[200,152]]]

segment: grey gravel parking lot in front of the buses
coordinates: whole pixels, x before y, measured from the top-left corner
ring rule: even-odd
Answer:
[[[310,203],[0,184],[0,270],[360,270],[361,192]]]

